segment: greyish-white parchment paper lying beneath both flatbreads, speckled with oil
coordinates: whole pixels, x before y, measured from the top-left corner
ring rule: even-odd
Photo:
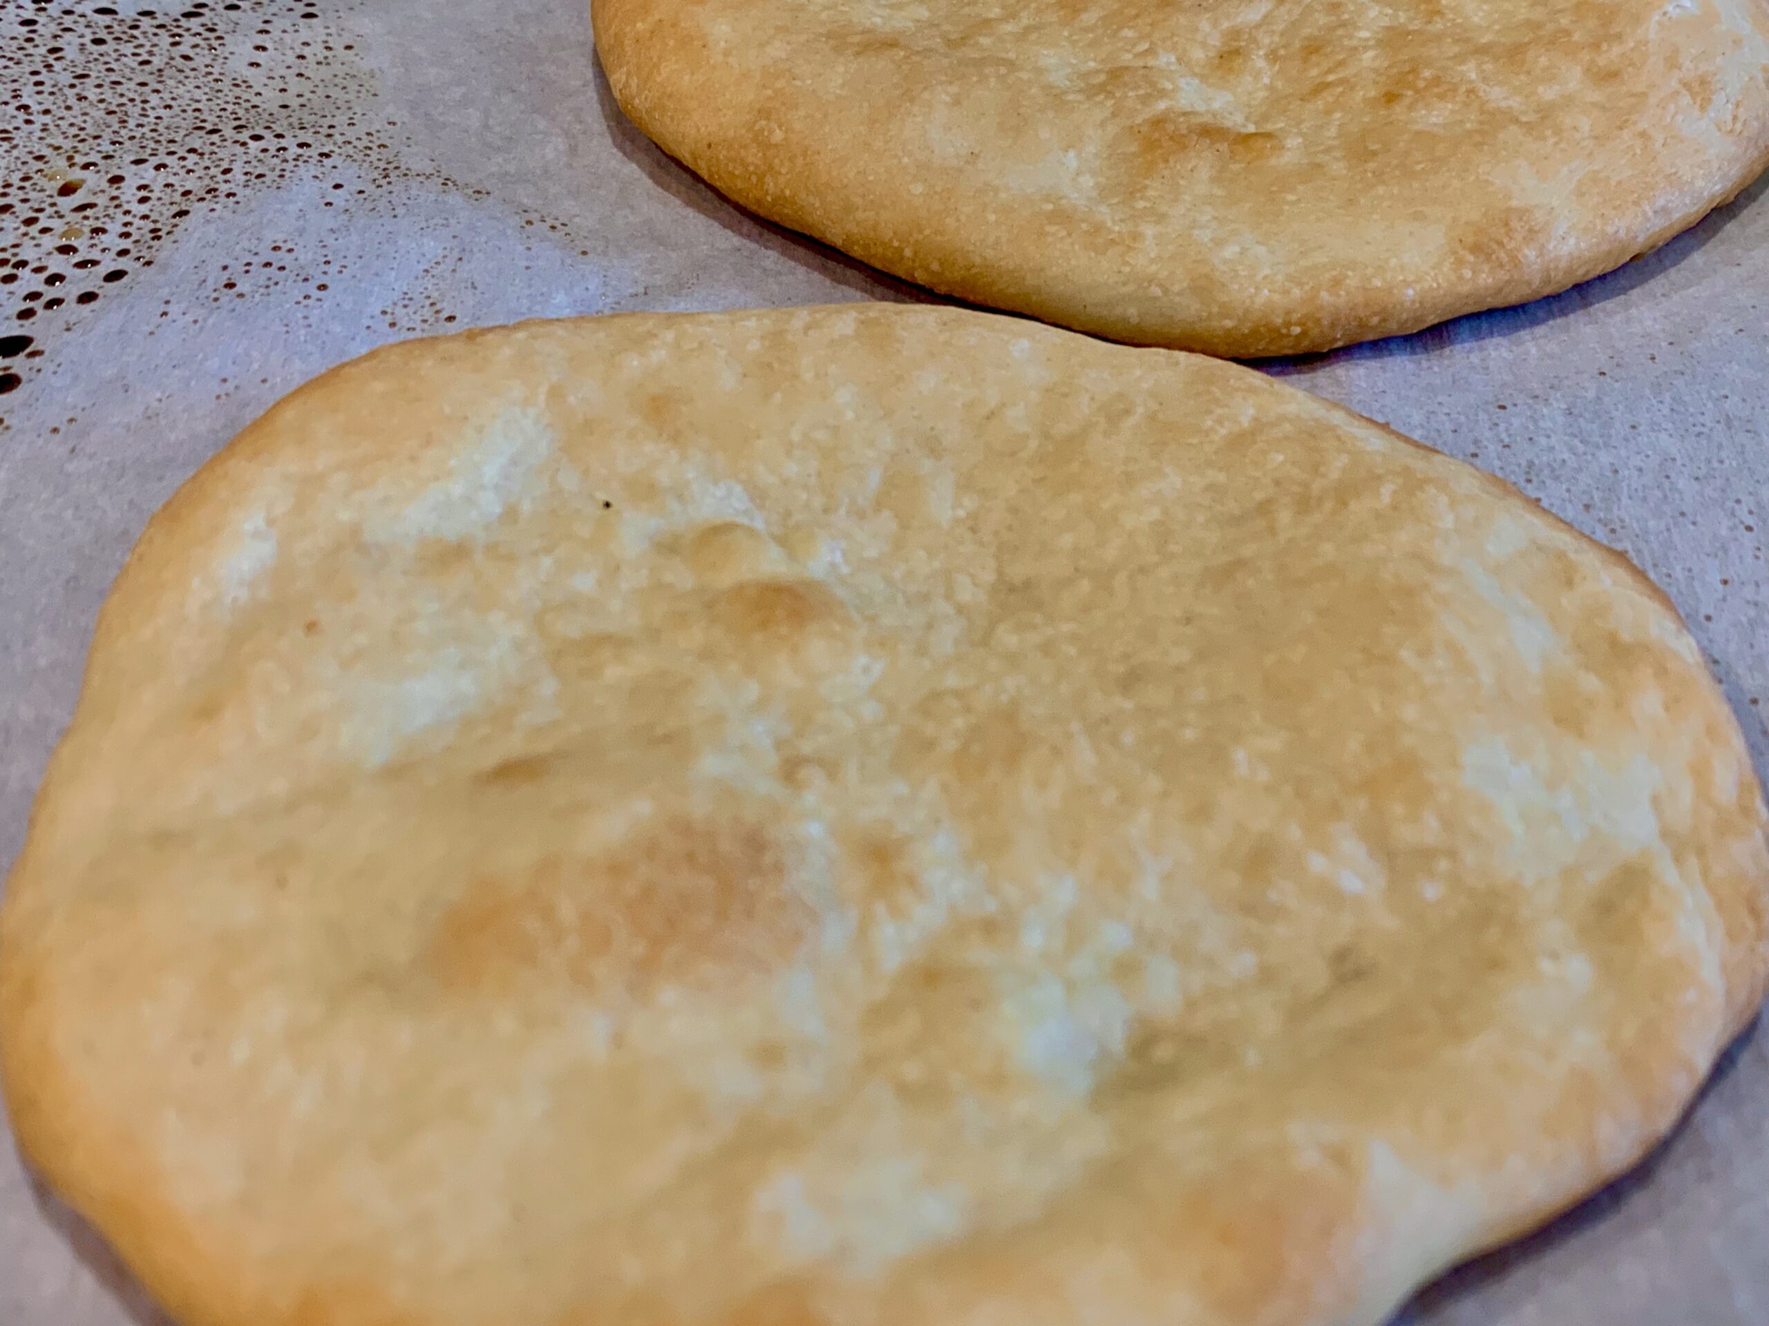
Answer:
[[[582,0],[143,9],[0,0],[0,88],[27,106],[0,129],[0,249],[28,260],[0,283],[0,350],[32,338],[0,357],[0,863],[131,541],[304,378],[534,315],[925,297],[748,217],[642,140],[596,72]],[[1268,368],[1627,552],[1682,608],[1769,773],[1765,315],[1758,182],[1557,299]],[[1640,1172],[1401,1321],[1769,1322],[1765,1100],[1753,1029]],[[0,1324],[163,1326],[9,1144]]]

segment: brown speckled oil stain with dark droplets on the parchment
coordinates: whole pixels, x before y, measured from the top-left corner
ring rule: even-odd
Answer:
[[[453,187],[375,113],[357,4],[0,0],[0,430],[35,361],[180,228],[302,177],[340,209],[414,173]],[[324,302],[348,279],[320,240],[262,248],[218,262],[207,299]]]

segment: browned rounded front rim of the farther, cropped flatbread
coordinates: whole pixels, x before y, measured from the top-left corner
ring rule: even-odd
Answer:
[[[594,0],[591,19],[601,69],[626,117],[741,207],[943,295],[1127,345],[1228,359],[1320,354],[1562,293],[1666,244],[1769,170],[1769,83],[1760,81],[1750,127],[1730,143],[1730,154],[1712,161],[1698,187],[1636,207],[1619,225],[1592,225],[1589,242],[1546,263],[1523,267],[1491,253],[1470,263],[1465,283],[1421,290],[1413,301],[1373,288],[1346,269],[1344,295],[1237,290],[1229,308],[1187,306],[1152,295],[1150,281],[1168,271],[1148,265],[1106,228],[1079,235],[1061,223],[1040,225],[1031,209],[1014,216],[1003,207],[1007,216],[996,216],[964,189],[955,168],[930,177],[920,196],[911,194],[900,187],[900,168],[872,168],[865,108],[798,85],[757,88],[706,53],[704,34],[678,5]],[[837,126],[867,145],[808,143],[801,129],[812,124]],[[766,141],[762,126],[778,141]],[[1088,253],[1095,246],[1120,249],[1109,276]],[[1185,271],[1208,271],[1208,262],[1182,260],[1176,267],[1183,278]]]

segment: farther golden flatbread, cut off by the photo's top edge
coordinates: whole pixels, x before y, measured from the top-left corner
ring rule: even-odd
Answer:
[[[980,304],[1281,355],[1564,290],[1769,164],[1762,0],[594,0],[745,207]]]

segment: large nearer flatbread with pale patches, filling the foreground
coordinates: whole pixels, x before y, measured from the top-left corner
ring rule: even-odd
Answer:
[[[1346,410],[525,324],[150,522],[0,1063],[191,1326],[1355,1326],[1673,1123],[1765,884],[1663,596]]]

